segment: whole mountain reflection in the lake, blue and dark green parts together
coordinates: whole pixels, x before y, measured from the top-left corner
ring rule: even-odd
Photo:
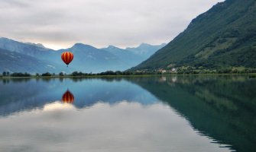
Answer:
[[[237,151],[251,152],[256,149],[255,87],[256,79],[214,76],[4,79],[0,81],[0,116],[41,109],[47,103],[60,101],[66,88],[76,99],[76,108],[123,100],[147,105],[158,98],[188,119],[201,134],[232,145]]]

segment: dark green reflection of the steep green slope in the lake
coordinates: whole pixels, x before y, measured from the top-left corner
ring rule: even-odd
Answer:
[[[130,81],[170,104],[203,135],[237,151],[256,150],[255,79],[180,76]]]

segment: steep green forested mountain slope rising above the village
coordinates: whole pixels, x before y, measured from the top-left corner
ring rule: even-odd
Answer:
[[[181,66],[256,68],[256,1],[226,0],[196,17],[163,49],[131,70]]]

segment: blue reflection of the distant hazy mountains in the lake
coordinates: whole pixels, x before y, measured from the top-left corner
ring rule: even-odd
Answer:
[[[127,100],[150,104],[157,100],[146,90],[122,79],[3,79],[0,81],[0,116],[41,109],[47,103],[63,100],[66,88],[76,99],[73,102],[76,108],[99,102],[114,104]]]

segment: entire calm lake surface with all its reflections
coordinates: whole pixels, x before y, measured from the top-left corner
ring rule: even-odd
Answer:
[[[256,78],[0,79],[0,151],[256,151]]]

